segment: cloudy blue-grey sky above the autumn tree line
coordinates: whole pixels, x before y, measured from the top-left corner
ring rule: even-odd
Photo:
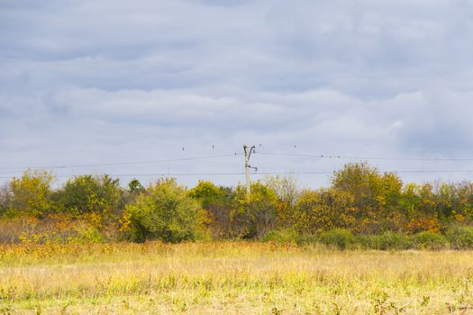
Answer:
[[[471,56],[468,0],[0,0],[0,182],[472,180]]]

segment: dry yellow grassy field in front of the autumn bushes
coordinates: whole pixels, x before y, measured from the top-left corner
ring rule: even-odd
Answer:
[[[0,313],[470,314],[473,252],[0,246]]]

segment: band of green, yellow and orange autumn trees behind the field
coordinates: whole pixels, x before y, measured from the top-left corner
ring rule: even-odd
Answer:
[[[473,246],[472,182],[404,184],[396,173],[367,163],[343,166],[328,187],[310,189],[294,177],[272,176],[252,183],[250,195],[241,184],[200,181],[188,189],[173,178],[146,187],[133,179],[126,188],[109,175],[75,176],[56,189],[53,181],[49,172],[26,171],[0,188],[1,242],[309,239],[330,233],[343,239],[387,233],[435,238],[460,230]]]

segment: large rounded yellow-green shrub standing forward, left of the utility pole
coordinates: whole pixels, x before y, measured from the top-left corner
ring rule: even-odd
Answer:
[[[195,239],[199,214],[199,203],[175,179],[160,180],[126,206],[123,230],[136,241]]]

